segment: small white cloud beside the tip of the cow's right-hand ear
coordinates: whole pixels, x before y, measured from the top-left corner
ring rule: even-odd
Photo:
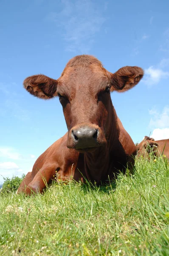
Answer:
[[[143,82],[148,86],[152,86],[153,84],[158,84],[161,79],[169,77],[169,72],[151,66],[145,70],[144,77]]]

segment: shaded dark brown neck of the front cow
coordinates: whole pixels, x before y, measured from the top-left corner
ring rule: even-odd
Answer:
[[[85,175],[88,180],[95,180],[98,184],[102,177],[106,177],[109,172],[113,147],[118,143],[119,128],[112,102],[108,113],[107,130],[105,131],[107,145],[98,147],[93,152],[84,153]]]

